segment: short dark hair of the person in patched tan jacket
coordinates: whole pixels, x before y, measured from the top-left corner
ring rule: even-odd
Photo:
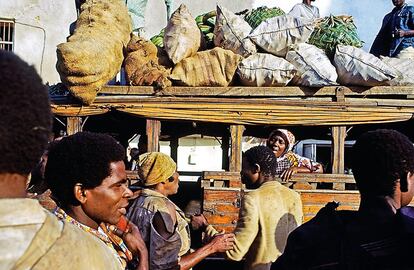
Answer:
[[[258,164],[264,175],[276,176],[277,159],[269,147],[254,146],[243,153],[243,158],[250,165]]]

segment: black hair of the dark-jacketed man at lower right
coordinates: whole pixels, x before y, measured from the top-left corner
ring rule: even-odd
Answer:
[[[352,148],[352,171],[361,195],[392,196],[398,179],[404,191],[414,172],[413,143],[396,130],[366,132]]]

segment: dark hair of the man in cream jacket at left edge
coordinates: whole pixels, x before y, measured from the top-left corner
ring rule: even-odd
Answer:
[[[27,175],[39,162],[52,127],[48,92],[36,70],[0,50],[0,173]]]

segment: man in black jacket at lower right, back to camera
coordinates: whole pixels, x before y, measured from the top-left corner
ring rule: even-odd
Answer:
[[[395,130],[363,134],[353,146],[358,211],[328,203],[293,231],[271,269],[414,269],[414,146]]]

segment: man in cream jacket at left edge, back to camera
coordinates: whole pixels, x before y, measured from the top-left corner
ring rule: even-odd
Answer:
[[[0,50],[0,268],[120,269],[98,239],[26,198],[28,175],[46,148],[52,114],[35,69]]]

